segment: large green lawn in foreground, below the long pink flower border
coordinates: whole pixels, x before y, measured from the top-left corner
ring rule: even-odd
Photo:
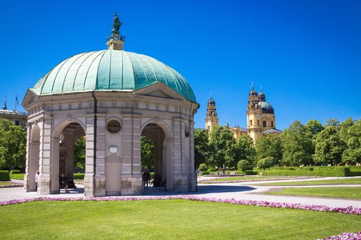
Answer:
[[[0,207],[1,239],[318,239],[361,217],[188,200],[30,202]]]

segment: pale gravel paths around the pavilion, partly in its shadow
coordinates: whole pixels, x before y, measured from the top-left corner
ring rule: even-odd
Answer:
[[[308,180],[326,180],[335,178],[313,178]],[[303,179],[304,181],[305,179]],[[259,182],[232,182],[224,184],[199,184],[198,191],[196,193],[168,193],[164,191],[164,188],[154,188],[144,190],[142,196],[149,195],[197,195],[200,197],[217,197],[221,199],[234,198],[237,200],[261,200],[268,202],[285,202],[292,204],[311,204],[311,205],[326,205],[332,207],[347,207],[354,206],[361,208],[361,200],[347,200],[336,199],[328,197],[296,197],[296,196],[284,196],[284,195],[263,195],[265,191],[284,186],[258,186],[260,183],[270,182],[289,182],[300,180],[277,180],[277,181],[259,181]],[[47,197],[83,197],[84,188],[83,185],[77,184],[78,189],[71,189],[69,193],[65,193],[61,190],[59,194],[46,195]],[[291,187],[291,186],[286,186]],[[361,187],[361,184],[342,184],[342,185],[314,185],[314,186],[294,186],[294,187]],[[37,193],[26,193],[21,187],[3,188],[0,189],[0,201],[25,199],[32,197],[39,197]],[[44,196],[44,195],[42,195]]]

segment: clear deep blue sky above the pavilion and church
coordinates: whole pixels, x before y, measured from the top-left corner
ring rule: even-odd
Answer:
[[[281,130],[295,119],[361,117],[358,0],[1,1],[0,97],[8,108],[58,62],[105,49],[113,12],[125,23],[126,51],[186,77],[201,104],[197,128],[210,91],[220,123],[244,127],[251,82]]]

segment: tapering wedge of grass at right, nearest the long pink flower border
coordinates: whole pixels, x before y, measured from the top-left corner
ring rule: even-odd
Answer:
[[[361,199],[361,187],[289,187],[268,191],[272,195],[305,195]]]

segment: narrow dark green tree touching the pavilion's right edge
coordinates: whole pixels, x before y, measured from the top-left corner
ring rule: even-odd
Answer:
[[[204,129],[195,129],[195,168],[197,169],[201,163],[209,166],[209,144],[208,132]]]

